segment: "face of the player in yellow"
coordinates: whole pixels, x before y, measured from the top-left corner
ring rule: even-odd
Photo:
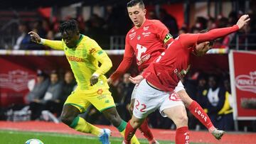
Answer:
[[[65,45],[67,45],[68,48],[75,48],[79,40],[78,35],[79,33],[74,31],[65,31],[64,33],[62,33],[62,38]]]

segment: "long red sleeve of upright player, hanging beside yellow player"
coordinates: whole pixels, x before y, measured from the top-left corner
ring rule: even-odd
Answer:
[[[122,62],[120,63],[119,67],[117,67],[117,70],[114,71],[113,74],[111,74],[110,79],[112,81],[117,80],[119,77],[122,76],[129,67],[132,65],[132,57],[134,56],[134,50],[131,45],[129,45],[129,38],[125,38],[125,48],[124,48],[124,57]]]

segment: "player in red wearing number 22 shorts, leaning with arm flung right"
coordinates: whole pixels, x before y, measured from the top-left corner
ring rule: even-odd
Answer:
[[[248,15],[243,15],[238,23],[228,28],[216,28],[207,33],[181,34],[169,47],[159,55],[149,67],[137,77],[130,77],[131,82],[139,84],[137,87],[136,101],[132,119],[127,123],[124,142],[129,143],[131,136],[139,128],[146,116],[159,109],[162,115],[171,118],[176,124],[176,143],[189,143],[187,121],[178,118],[186,114],[186,109],[181,99],[176,95],[176,85],[188,72],[190,67],[190,53],[197,52],[196,45],[204,45],[205,52],[210,49],[210,40],[223,37],[240,30],[250,21]],[[203,109],[196,112],[204,119]]]

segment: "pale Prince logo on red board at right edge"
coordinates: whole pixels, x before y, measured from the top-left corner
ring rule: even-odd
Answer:
[[[256,94],[256,71],[250,74],[240,74],[235,77],[235,87],[241,91],[253,92]]]

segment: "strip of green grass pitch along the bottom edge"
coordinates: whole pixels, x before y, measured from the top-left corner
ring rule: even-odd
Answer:
[[[42,133],[28,131],[0,131],[0,143],[2,144],[25,144],[26,140],[38,138],[44,144],[100,144],[97,137],[88,135],[70,135],[63,133]],[[111,144],[122,143],[122,138],[110,138]],[[139,139],[142,144],[148,143],[146,139]],[[159,143],[167,144],[169,141],[160,140]],[[195,143],[194,143],[195,144]]]

